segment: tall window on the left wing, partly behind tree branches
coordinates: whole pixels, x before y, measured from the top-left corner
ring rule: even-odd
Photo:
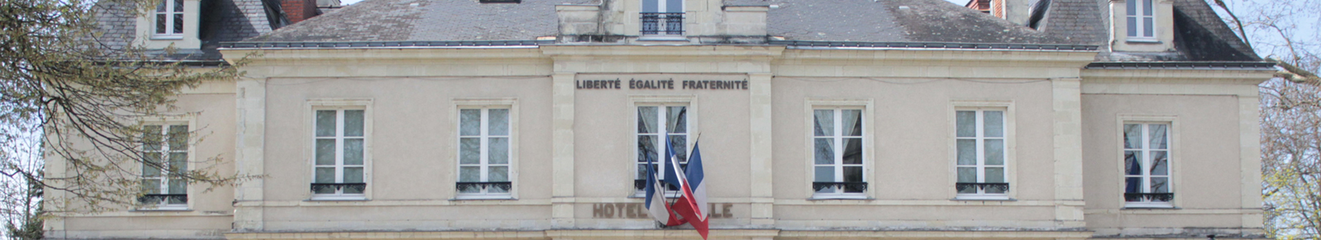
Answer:
[[[144,207],[186,208],[188,125],[143,127],[143,190],[137,199]]]

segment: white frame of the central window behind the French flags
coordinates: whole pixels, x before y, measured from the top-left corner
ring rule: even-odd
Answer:
[[[642,166],[642,165],[645,165],[645,164],[639,164],[639,161],[638,161],[638,148],[637,148],[638,146],[638,137],[642,135],[642,133],[638,133],[638,108],[639,107],[658,107],[657,108],[658,109],[657,111],[657,117],[658,117],[658,120],[657,120],[657,127],[658,127],[657,133],[647,133],[647,135],[653,135],[653,136],[666,136],[663,138],[659,138],[660,141],[655,142],[655,145],[657,145],[655,148],[658,150],[658,156],[657,156],[658,161],[653,162],[653,165],[657,167],[658,171],[660,170],[660,164],[663,164],[660,161],[667,161],[667,158],[666,158],[667,153],[666,153],[664,142],[670,141],[670,136],[678,136],[678,135],[674,135],[674,133],[668,132],[670,131],[670,128],[667,128],[668,127],[668,117],[666,117],[668,115],[666,112],[667,111],[666,107],[686,107],[684,111],[687,111],[687,112],[684,113],[684,116],[687,119],[684,120],[684,123],[687,123],[687,125],[684,127],[686,128],[684,133],[682,133],[682,136],[684,136],[684,141],[686,141],[684,142],[684,145],[686,145],[684,149],[688,150],[688,153],[684,153],[686,156],[691,154],[692,144],[695,141],[694,140],[694,137],[695,137],[694,132],[697,131],[697,125],[699,125],[697,121],[696,121],[697,120],[697,117],[696,117],[697,103],[695,102],[695,98],[692,98],[692,96],[658,96],[658,95],[630,96],[630,100],[629,100],[629,113],[633,115],[633,119],[631,119],[631,124],[630,124],[631,128],[629,128],[629,132],[630,132],[629,137],[633,138],[631,140],[633,145],[630,145],[631,146],[630,149],[633,149],[630,152],[633,154],[629,154],[629,165],[631,165],[631,166],[627,167],[627,169],[633,170],[633,171],[629,171],[629,174],[633,175],[634,181],[637,181],[637,179],[646,179],[645,175],[642,178],[639,178],[637,175],[638,167]],[[682,161],[680,165],[687,165],[688,164],[687,162],[688,160],[680,160],[680,161]],[[683,166],[680,166],[680,169]],[[664,174],[662,173],[658,179],[664,179]],[[639,196],[641,198],[641,196],[645,196],[645,194],[646,194],[642,190],[637,190],[633,185],[629,185],[629,189],[631,190],[630,193],[631,193],[633,196]],[[678,198],[678,196],[679,196],[678,191],[666,191],[666,198]]]

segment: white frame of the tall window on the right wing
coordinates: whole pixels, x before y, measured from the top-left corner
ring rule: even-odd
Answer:
[[[1148,182],[1149,177],[1151,177],[1151,174],[1149,174],[1151,173],[1151,154],[1149,154],[1151,149],[1147,148],[1147,144],[1151,142],[1151,140],[1149,140],[1151,132],[1148,132],[1148,128],[1149,128],[1148,124],[1165,124],[1166,125],[1166,128],[1165,128],[1165,141],[1166,141],[1166,146],[1165,146],[1165,150],[1166,150],[1166,156],[1165,156],[1166,157],[1166,173],[1165,174],[1166,175],[1165,177],[1168,178],[1166,185],[1169,185],[1169,186],[1166,186],[1166,189],[1169,189],[1170,194],[1174,194],[1174,199],[1173,200],[1170,200],[1170,202],[1147,202],[1147,200],[1143,200],[1143,202],[1128,202],[1127,199],[1124,199],[1123,194],[1127,193],[1127,178],[1129,177],[1128,173],[1125,171],[1125,166],[1124,166],[1124,152],[1127,152],[1127,150],[1135,150],[1135,149],[1127,149],[1124,146],[1124,125],[1125,124],[1143,124],[1143,149],[1140,149],[1140,150],[1143,150],[1143,160],[1141,160],[1143,161],[1143,166],[1141,166],[1143,167],[1141,169],[1143,175],[1140,175],[1140,177],[1143,177],[1143,183],[1144,183],[1143,185],[1143,193],[1151,193],[1151,190],[1149,190],[1151,183]],[[1174,208],[1174,206],[1178,206],[1178,203],[1180,203],[1181,199],[1178,198],[1178,191],[1176,191],[1176,189],[1174,189],[1176,186],[1178,186],[1178,178],[1176,178],[1176,177],[1178,175],[1177,174],[1177,169],[1178,169],[1177,167],[1178,166],[1178,158],[1177,158],[1177,156],[1180,154],[1180,148],[1177,148],[1178,146],[1178,138],[1180,138],[1178,137],[1178,131],[1177,131],[1178,129],[1177,116],[1172,116],[1172,115],[1119,115],[1119,120],[1116,121],[1116,129],[1118,129],[1116,131],[1116,138],[1118,138],[1118,141],[1116,141],[1116,146],[1118,148],[1116,149],[1119,149],[1118,150],[1118,156],[1119,157],[1116,158],[1116,161],[1118,161],[1116,164],[1119,166],[1118,167],[1118,173],[1119,173],[1119,183],[1118,185],[1119,185],[1119,202],[1120,202],[1120,204],[1123,204],[1125,208]],[[1139,177],[1139,175],[1135,175],[1135,177]]]

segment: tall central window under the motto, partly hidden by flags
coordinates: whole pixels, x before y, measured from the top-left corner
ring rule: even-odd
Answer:
[[[679,167],[686,169],[688,164],[688,107],[680,104],[658,104],[638,107],[638,131],[635,132],[638,156],[634,187],[639,191],[647,179],[647,162],[651,167],[660,170],[662,161],[668,161],[666,142],[674,148],[674,154],[679,158]],[[660,179],[664,174],[660,174]],[[670,186],[670,190],[678,190]]]

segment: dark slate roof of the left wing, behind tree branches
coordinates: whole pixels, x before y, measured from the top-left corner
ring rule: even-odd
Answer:
[[[137,34],[137,9],[125,0],[102,0],[92,8],[100,22],[102,34],[96,38],[102,47],[123,49],[133,42]],[[178,49],[173,54],[161,51],[165,58],[176,61],[221,61],[215,49],[219,42],[240,41],[269,33],[281,26],[279,4],[264,0],[202,0],[198,38],[201,49]],[[275,15],[271,15],[275,13]]]

